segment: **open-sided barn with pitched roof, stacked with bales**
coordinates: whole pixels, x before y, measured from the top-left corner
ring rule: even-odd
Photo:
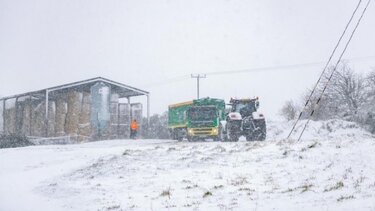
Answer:
[[[74,141],[126,138],[132,119],[142,121],[143,106],[132,97],[149,92],[102,77],[0,99],[0,132]],[[126,100],[122,100],[126,99]]]

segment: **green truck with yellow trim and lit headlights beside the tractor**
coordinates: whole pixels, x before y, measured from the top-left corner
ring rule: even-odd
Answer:
[[[220,140],[221,124],[225,120],[225,101],[202,98],[170,105],[168,129],[172,139],[188,141],[212,138]]]

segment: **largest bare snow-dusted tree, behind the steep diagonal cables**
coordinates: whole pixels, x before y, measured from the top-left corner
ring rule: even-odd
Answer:
[[[356,74],[346,63],[341,63],[330,79],[332,71],[334,70],[331,67],[323,76],[302,118],[315,120],[343,118],[357,121],[359,111],[367,102],[366,80],[363,76]],[[322,94],[323,90],[324,94]],[[310,95],[311,91],[307,91],[303,95],[303,102],[306,102]]]

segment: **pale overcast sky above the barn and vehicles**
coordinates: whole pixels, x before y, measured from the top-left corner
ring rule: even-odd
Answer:
[[[201,96],[259,96],[276,118],[318,79],[357,3],[0,0],[0,96],[102,76],[149,91],[161,113],[196,97],[191,73],[233,71],[208,74]],[[374,4],[344,57],[357,72],[375,67]]]

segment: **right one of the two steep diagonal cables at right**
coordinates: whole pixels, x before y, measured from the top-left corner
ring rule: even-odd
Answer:
[[[344,55],[346,49],[348,48],[349,43],[350,43],[350,41],[352,40],[352,38],[353,38],[353,36],[354,36],[354,33],[355,33],[355,31],[357,30],[357,28],[358,28],[358,26],[359,26],[359,24],[360,24],[360,22],[361,22],[361,20],[362,20],[362,18],[363,18],[363,15],[365,14],[365,12],[366,12],[366,10],[367,10],[367,7],[370,5],[370,2],[371,2],[371,0],[368,0],[368,1],[367,1],[366,7],[365,7],[365,8],[363,9],[363,11],[362,11],[361,17],[359,17],[358,22],[357,22],[357,24],[356,24],[354,30],[352,31],[352,34],[350,35],[349,40],[348,40],[348,42],[346,43],[344,50],[342,51],[342,53],[341,53],[341,55],[340,55],[340,57],[339,57],[339,60],[336,62],[336,65],[335,65],[335,67],[334,67],[334,69],[333,69],[331,75],[329,76],[328,81],[327,81],[327,83],[325,84],[325,86],[324,86],[324,88],[323,88],[323,91],[321,92],[321,94],[320,94],[318,100],[316,101],[316,103],[315,103],[315,105],[314,105],[314,107],[313,107],[313,110],[311,111],[310,117],[312,117],[312,115],[314,115],[315,108],[316,108],[316,106],[319,104],[321,98],[323,97],[323,94],[324,94],[324,92],[326,91],[326,89],[327,89],[327,87],[328,87],[328,85],[329,85],[329,82],[331,81],[331,79],[332,79],[332,77],[333,77],[333,74],[336,72],[336,70],[337,70],[337,66],[338,66],[339,63],[341,62],[341,58],[342,58],[342,56]],[[297,142],[299,142],[299,141],[301,140],[302,135],[303,135],[303,133],[305,132],[305,129],[306,129],[307,125],[308,125],[309,122],[310,122],[310,119],[311,119],[311,118],[308,118],[308,120],[307,120],[305,126],[304,126],[303,129],[302,129],[302,132],[301,132],[300,136],[298,137]]]

